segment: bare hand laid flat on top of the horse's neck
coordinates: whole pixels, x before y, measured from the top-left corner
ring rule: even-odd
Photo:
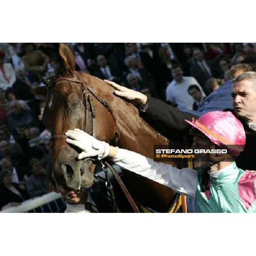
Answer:
[[[104,81],[116,89],[115,90],[116,95],[121,96],[125,99],[128,99],[131,102],[138,103],[141,107],[145,106],[148,97],[145,96],[143,93],[128,89],[112,81],[108,81],[108,80],[104,80]]]

